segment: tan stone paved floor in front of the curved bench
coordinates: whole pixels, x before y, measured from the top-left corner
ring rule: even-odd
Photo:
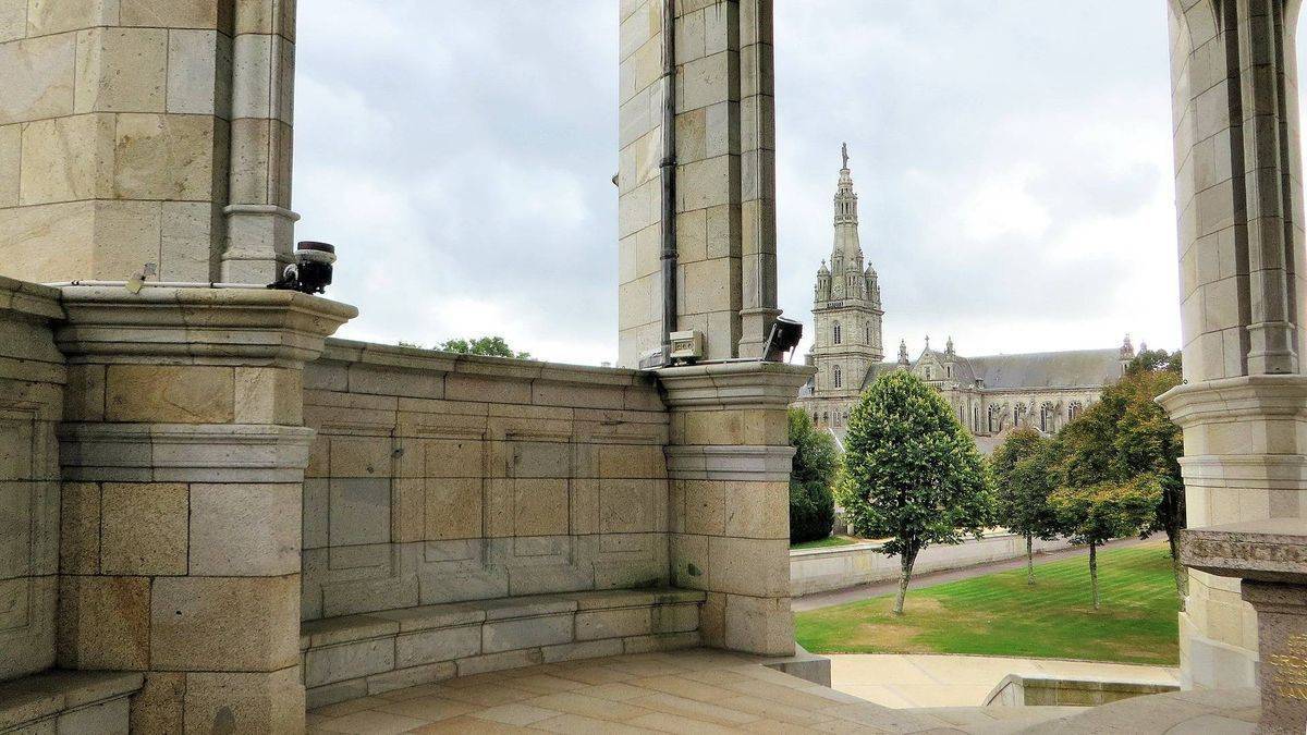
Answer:
[[[320,708],[310,732],[1013,731],[1065,708],[912,714],[695,649],[482,674]],[[961,727],[961,730],[959,730]]]

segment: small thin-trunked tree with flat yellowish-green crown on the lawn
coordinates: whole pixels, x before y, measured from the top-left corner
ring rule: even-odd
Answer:
[[[1162,487],[1151,475],[1142,475],[1124,484],[1061,488],[1048,496],[1048,505],[1057,514],[1067,538],[1076,544],[1089,544],[1094,609],[1099,608],[1098,547],[1145,530],[1153,522],[1161,500]]]

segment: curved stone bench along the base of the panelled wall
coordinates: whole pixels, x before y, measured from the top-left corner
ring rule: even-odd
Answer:
[[[308,708],[486,671],[697,646],[703,599],[605,590],[308,621],[299,634]]]

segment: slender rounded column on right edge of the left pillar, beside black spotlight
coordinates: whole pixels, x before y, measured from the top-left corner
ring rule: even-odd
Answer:
[[[237,3],[231,58],[231,196],[222,280],[272,282],[293,262],[290,211],[295,0]]]

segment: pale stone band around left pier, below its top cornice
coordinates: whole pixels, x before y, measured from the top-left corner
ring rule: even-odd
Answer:
[[[248,424],[64,424],[65,480],[299,483],[315,432]]]

